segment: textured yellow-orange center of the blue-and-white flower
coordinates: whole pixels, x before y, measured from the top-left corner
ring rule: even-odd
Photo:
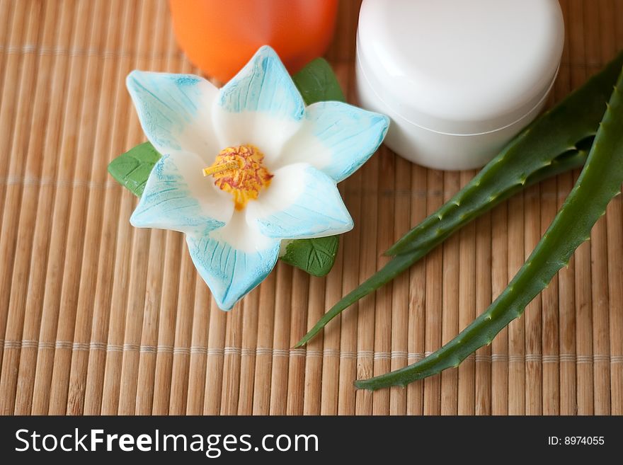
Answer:
[[[219,189],[232,193],[236,210],[241,210],[270,185],[273,175],[263,160],[264,154],[253,145],[227,147],[219,152],[212,166],[203,168],[203,176],[212,176]]]

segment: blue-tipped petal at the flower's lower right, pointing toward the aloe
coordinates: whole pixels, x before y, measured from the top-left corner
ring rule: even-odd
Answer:
[[[247,205],[264,236],[304,239],[342,234],[353,229],[336,183],[306,163],[275,171],[270,186]]]

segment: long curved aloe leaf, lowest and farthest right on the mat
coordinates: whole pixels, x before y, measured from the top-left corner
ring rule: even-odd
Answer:
[[[379,389],[429,377],[456,367],[491,340],[537,297],[568,264],[576,248],[590,239],[590,230],[623,183],[623,73],[612,92],[588,159],[563,206],[537,247],[508,287],[488,309],[456,338],[432,355],[408,367],[371,379],[355,381],[363,389]]]

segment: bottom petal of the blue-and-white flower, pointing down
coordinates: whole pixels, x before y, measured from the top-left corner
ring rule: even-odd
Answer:
[[[237,212],[222,229],[205,236],[186,236],[195,268],[222,310],[230,310],[259,285],[277,263],[280,241],[268,239]]]

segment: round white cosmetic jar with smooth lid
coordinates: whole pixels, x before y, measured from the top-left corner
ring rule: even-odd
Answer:
[[[542,110],[563,44],[557,0],[364,0],[360,105],[404,158],[478,168]]]

